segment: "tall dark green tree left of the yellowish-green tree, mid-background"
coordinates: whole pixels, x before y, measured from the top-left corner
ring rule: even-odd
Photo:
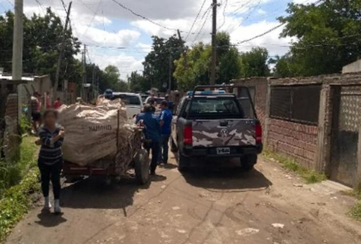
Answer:
[[[168,40],[153,36],[152,51],[145,57],[143,76],[152,87],[158,88],[160,91],[167,90],[169,80],[169,61],[173,63],[180,58],[180,55],[186,50],[184,41],[175,35]],[[172,65],[172,73],[175,67]],[[164,87],[163,84],[166,84]],[[172,77],[172,88],[175,88],[176,81]]]

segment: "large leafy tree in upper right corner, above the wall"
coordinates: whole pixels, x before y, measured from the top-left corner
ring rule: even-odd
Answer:
[[[289,3],[281,37],[294,37],[290,53],[279,66],[295,76],[340,72],[361,53],[361,1],[323,0],[318,4]],[[286,65],[287,63],[287,65]]]

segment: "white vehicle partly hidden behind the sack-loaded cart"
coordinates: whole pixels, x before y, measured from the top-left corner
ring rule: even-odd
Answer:
[[[143,102],[141,101],[141,97],[136,93],[128,93],[128,92],[113,92],[111,100],[115,100],[120,98],[122,102],[126,105],[126,112],[129,118],[133,118],[134,115],[140,113]]]

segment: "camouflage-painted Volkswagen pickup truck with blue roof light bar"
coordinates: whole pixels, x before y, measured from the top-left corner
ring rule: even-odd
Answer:
[[[238,96],[226,93],[234,89]],[[252,169],[262,151],[262,129],[248,88],[197,86],[188,92],[173,117],[171,149],[180,171],[197,157],[240,158],[245,170]]]

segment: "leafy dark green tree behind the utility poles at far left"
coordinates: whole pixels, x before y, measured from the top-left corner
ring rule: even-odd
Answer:
[[[30,19],[24,18],[23,72],[35,75],[50,74],[54,80],[56,64],[63,26],[50,8],[45,16],[34,14]],[[14,14],[8,11],[0,16],[1,66],[5,72],[11,71]],[[73,37],[72,30],[66,31],[64,56],[61,65],[60,80],[79,77],[79,62],[74,58],[80,52],[80,42]],[[61,83],[61,82],[60,82]]]

